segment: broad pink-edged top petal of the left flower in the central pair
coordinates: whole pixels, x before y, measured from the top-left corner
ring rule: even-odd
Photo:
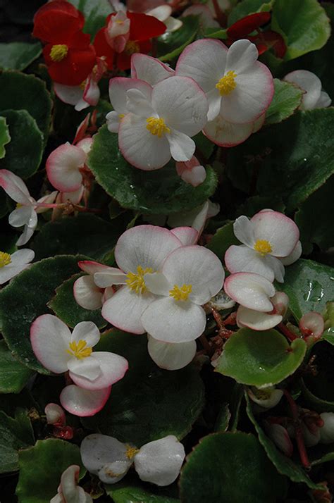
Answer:
[[[155,225],[137,225],[125,230],[115,249],[117,265],[125,273],[136,273],[137,267],[159,271],[171,251],[182,243],[167,229]]]

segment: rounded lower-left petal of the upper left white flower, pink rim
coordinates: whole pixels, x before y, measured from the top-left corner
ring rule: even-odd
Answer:
[[[171,149],[166,136],[152,135],[147,130],[147,120],[127,113],[118,132],[120,151],[125,159],[145,171],[162,168],[171,159]]]

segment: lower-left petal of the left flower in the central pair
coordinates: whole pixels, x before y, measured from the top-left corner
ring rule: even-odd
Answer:
[[[145,332],[141,321],[142,313],[154,298],[154,295],[147,292],[136,294],[127,286],[121,287],[111,299],[104,302],[102,316],[120,330],[142,334]]]

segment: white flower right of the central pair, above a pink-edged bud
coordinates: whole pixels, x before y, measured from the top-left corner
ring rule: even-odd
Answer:
[[[284,281],[281,258],[290,256],[299,240],[299,229],[291,218],[278,211],[260,211],[251,220],[240,216],[233,225],[243,244],[233,244],[225,253],[230,273],[248,272]]]

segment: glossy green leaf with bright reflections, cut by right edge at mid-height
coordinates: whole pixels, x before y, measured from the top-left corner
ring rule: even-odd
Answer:
[[[309,311],[321,313],[326,302],[334,299],[334,269],[311,260],[285,268],[280,290],[289,297],[289,308],[297,320]]]

